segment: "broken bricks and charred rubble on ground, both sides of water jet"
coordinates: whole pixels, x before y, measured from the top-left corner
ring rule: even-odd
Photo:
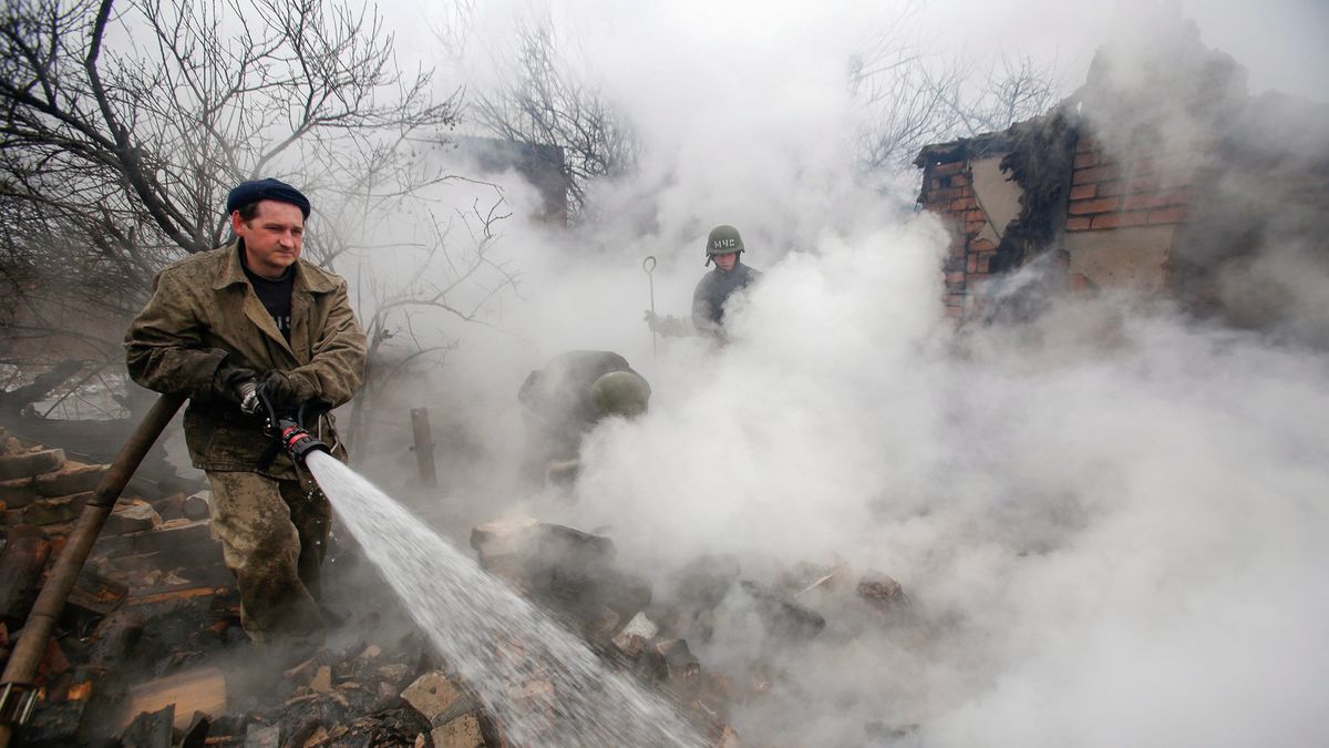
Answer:
[[[8,652],[48,559],[106,467],[7,437],[0,446],[8,526],[0,642]],[[484,709],[376,570],[339,538],[324,570],[328,646],[274,667],[272,654],[255,651],[241,627],[239,598],[210,536],[207,491],[170,488],[140,482],[133,492],[150,500],[117,504],[47,650],[41,703],[19,744],[510,745],[501,716]],[[621,567],[602,535],[521,516],[484,523],[470,542],[485,570],[579,634],[610,667],[663,693],[718,747],[739,744],[731,707],[780,677],[763,663],[739,676],[703,667],[694,646],[711,640],[727,608],[755,616],[781,647],[825,636],[828,600],[849,600],[880,620],[909,611],[894,580],[869,574],[852,587],[843,563],[800,564],[764,584],[742,578],[731,556],[703,556],[678,570],[662,599],[649,579]],[[557,701],[557,693],[540,696]]]

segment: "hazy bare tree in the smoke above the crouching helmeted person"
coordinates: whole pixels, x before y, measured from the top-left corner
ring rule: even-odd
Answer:
[[[623,112],[560,52],[548,20],[518,25],[518,52],[489,91],[473,92],[474,120],[496,137],[561,149],[573,221],[585,218],[587,186],[635,168],[639,142]]]

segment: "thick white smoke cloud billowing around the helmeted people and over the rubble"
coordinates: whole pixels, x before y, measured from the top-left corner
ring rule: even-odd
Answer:
[[[476,28],[502,44],[520,7],[486,4]],[[928,11],[940,15],[925,27],[953,19],[960,40],[1083,60],[1073,84],[1102,41],[1092,29],[1120,15]],[[1271,44],[1296,44],[1278,20],[1322,15],[1185,11],[1211,45],[1244,19],[1249,47],[1228,52],[1256,91],[1296,80],[1272,72],[1286,68]],[[599,225],[508,225],[505,256],[525,274],[500,322],[510,334],[457,330],[439,386],[482,414],[481,441],[510,443],[529,369],[571,347],[623,353],[651,381],[653,410],[602,425],[577,502],[536,496],[542,518],[607,526],[658,583],[728,551],[747,576],[833,554],[905,584],[929,626],[920,638],[767,654],[789,677],[735,716],[755,744],[868,744],[872,721],[918,724],[926,745],[1314,744],[1329,727],[1329,359],[1112,294],[953,334],[938,299],[946,237],[909,213],[913,176],[881,194],[851,168],[847,53],[884,15],[558,5],[578,64],[633,113],[642,173],[597,194]],[[730,346],[664,341],[654,358],[641,258],[659,257],[659,310],[686,313],[719,222],[739,226],[766,280],[731,311]],[[485,510],[525,498],[474,491]],[[752,654],[734,620],[702,648],[707,667]]]

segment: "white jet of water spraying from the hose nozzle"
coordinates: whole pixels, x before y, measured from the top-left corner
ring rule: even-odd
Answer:
[[[314,443],[311,443],[311,441]],[[703,748],[661,696],[490,576],[303,430],[283,437],[407,614],[516,745]],[[548,688],[540,687],[548,684]]]

